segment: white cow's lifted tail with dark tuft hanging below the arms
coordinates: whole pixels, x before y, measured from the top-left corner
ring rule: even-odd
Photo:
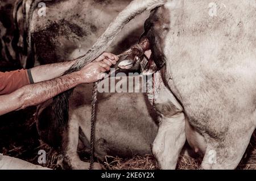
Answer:
[[[109,25],[103,35],[97,40],[93,47],[84,55],[77,58],[77,62],[71,66],[64,74],[80,70],[89,62],[100,56],[114,40],[115,36],[122,28],[135,16],[142,14],[146,10],[155,9],[164,5],[168,0],[134,0],[126,9],[121,11],[117,18]],[[68,101],[72,90],[66,91],[53,99],[52,121],[55,121],[57,128],[66,128],[68,123]]]

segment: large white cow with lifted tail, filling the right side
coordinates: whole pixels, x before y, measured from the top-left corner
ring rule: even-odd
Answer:
[[[175,169],[187,138],[196,149],[205,148],[203,169],[235,169],[256,126],[256,7],[251,2],[135,0],[70,71],[102,53],[134,16],[162,6],[152,12],[145,34],[164,82],[156,100],[162,122],[153,153],[162,169]]]

